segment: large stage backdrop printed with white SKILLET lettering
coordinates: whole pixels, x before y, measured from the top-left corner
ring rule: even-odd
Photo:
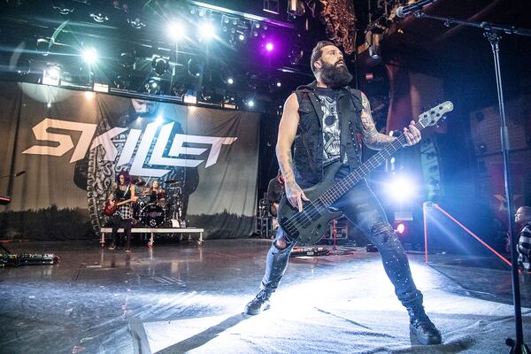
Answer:
[[[137,195],[164,182],[170,218],[204,227],[207,237],[254,230],[256,113],[14,82],[0,82],[0,107],[0,194],[12,198],[0,206],[0,238],[95,235],[122,170],[146,183]]]

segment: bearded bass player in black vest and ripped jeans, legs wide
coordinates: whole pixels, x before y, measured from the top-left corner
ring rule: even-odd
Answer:
[[[312,51],[311,64],[317,80],[297,88],[286,100],[276,145],[286,197],[299,212],[303,210],[303,202],[308,201],[303,189],[319,183],[328,166],[342,162],[335,174],[335,181],[339,181],[361,165],[358,136],[373,150],[381,150],[396,139],[376,130],[367,97],[347,86],[352,75],[334,43],[318,42]],[[404,128],[404,135],[407,145],[420,141],[414,121]],[[360,181],[332,205],[357,225],[380,251],[396,296],[409,313],[412,335],[423,344],[441,343],[441,333],[424,312],[422,294],[412,280],[404,248],[366,181]],[[256,315],[269,308],[269,298],[286,271],[295,244],[296,240],[279,227],[267,254],[260,291],[245,306],[244,313]]]

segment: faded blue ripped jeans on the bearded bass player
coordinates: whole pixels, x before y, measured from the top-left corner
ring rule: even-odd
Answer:
[[[404,247],[398,241],[380,202],[366,181],[360,181],[332,206],[340,209],[378,248],[385,272],[395,286],[395,293],[400,302],[405,307],[422,304],[422,293],[413,282]],[[279,227],[267,253],[266,274],[262,279],[261,289],[269,293],[277,289],[288,266],[289,253],[296,245],[296,242],[288,242],[283,236],[284,232]]]

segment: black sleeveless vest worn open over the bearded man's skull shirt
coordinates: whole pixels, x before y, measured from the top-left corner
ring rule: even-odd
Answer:
[[[323,176],[323,112],[315,94],[316,82],[298,87],[295,91],[299,104],[299,124],[293,143],[294,172],[302,188],[310,187]],[[341,125],[341,150],[349,159],[350,171],[361,164],[361,91],[344,87],[337,98],[337,112]],[[347,127],[345,129],[345,127]]]

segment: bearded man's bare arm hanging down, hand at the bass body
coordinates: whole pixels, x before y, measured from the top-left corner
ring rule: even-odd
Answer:
[[[290,204],[298,208],[299,211],[302,211],[303,200],[308,200],[308,198],[304,195],[303,189],[301,189],[295,181],[293,159],[291,158],[291,145],[293,145],[295,140],[298,122],[298,102],[295,93],[293,93],[288,97],[284,104],[284,112],[282,112],[276,144],[276,155],[279,161],[279,166],[281,167],[282,175],[284,176],[286,197]]]

